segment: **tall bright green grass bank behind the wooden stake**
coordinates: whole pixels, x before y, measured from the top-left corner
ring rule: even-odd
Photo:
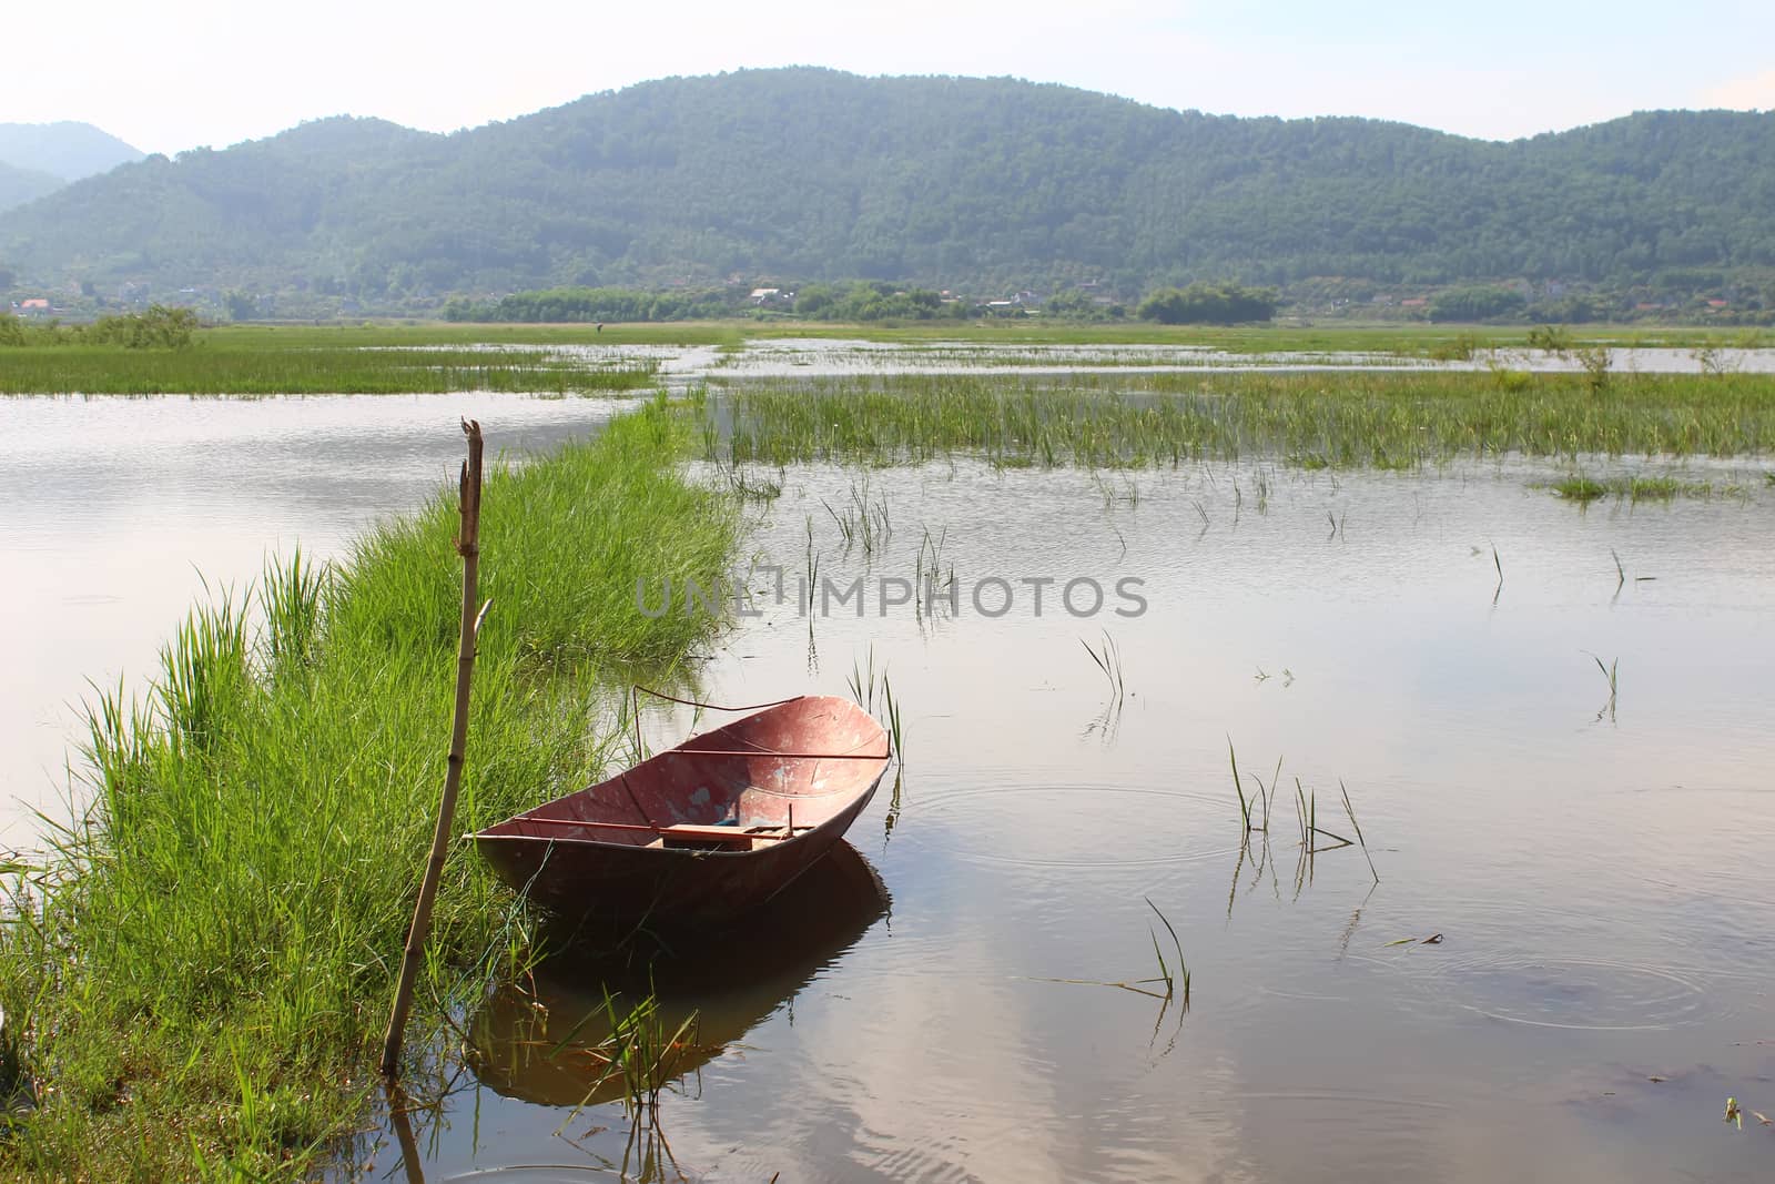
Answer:
[[[490,476],[465,831],[593,779],[618,742],[602,687],[710,628],[634,604],[639,577],[710,580],[737,545],[733,501],[676,474],[690,440],[657,401]],[[0,1175],[300,1179],[362,1111],[444,779],[454,525],[440,495],[337,570],[273,566],[192,612],[144,699],[92,705],[89,804],[0,925],[41,1097]],[[417,1022],[531,941],[454,852]]]

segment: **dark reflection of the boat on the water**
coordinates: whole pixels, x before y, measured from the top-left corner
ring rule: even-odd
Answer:
[[[469,1065],[481,1085],[525,1102],[619,1101],[627,1090],[611,1072],[605,1044],[612,1014],[627,1015],[651,989],[664,1037],[694,1017],[669,1062],[682,1081],[788,1003],[888,907],[875,868],[838,841],[769,904],[724,928],[639,937],[616,953],[579,946],[550,959],[536,969],[534,991],[531,983],[499,991],[474,1015]]]

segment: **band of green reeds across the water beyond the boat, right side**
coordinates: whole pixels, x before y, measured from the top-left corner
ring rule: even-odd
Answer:
[[[737,385],[710,399],[730,462],[1170,465],[1283,456],[1415,469],[1461,456],[1745,456],[1775,449],[1759,375],[911,375]]]

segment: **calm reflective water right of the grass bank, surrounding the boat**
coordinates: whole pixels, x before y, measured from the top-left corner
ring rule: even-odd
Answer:
[[[898,793],[756,934],[657,962],[667,1030],[701,1019],[657,1129],[591,1051],[602,987],[644,980],[580,959],[465,1017],[412,1172],[1768,1179],[1775,1131],[1720,1118],[1775,1109],[1775,497],[1582,511],[1534,476],[790,470],[758,529],[785,602],[749,573],[705,692],[843,694],[873,655]],[[891,534],[847,554],[825,506],[880,501]],[[861,618],[797,609],[809,522]],[[884,611],[927,529],[960,609]],[[1248,792],[1282,762],[1267,843],[1228,738]],[[1353,836],[1347,786],[1379,882],[1303,856],[1296,777]],[[1143,898],[1187,1010],[1053,982],[1156,975]],[[359,1152],[401,1179],[394,1133]]]

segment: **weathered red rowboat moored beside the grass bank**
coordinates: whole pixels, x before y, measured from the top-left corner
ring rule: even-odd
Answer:
[[[888,770],[850,699],[802,696],[474,834],[499,875],[600,927],[699,927],[770,900],[845,834]]]

